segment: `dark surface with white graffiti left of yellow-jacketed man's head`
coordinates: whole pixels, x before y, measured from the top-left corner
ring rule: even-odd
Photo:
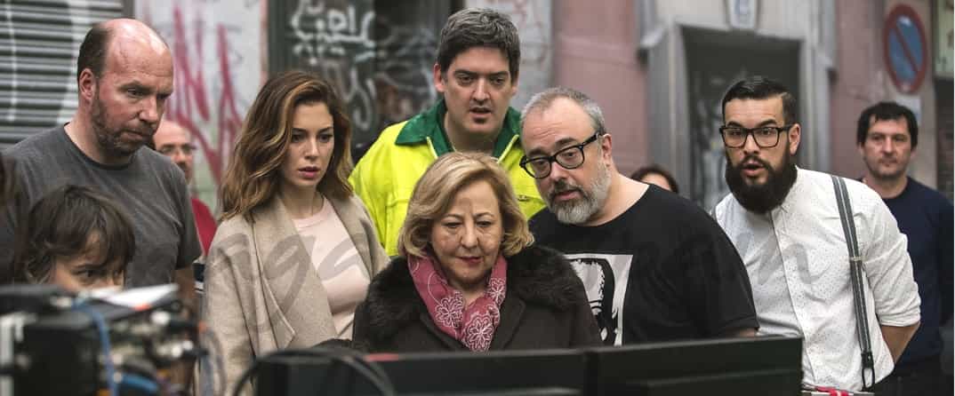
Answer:
[[[427,22],[435,10],[371,0],[299,0],[286,12],[277,16],[286,42],[270,51],[286,58],[283,67],[315,71],[335,86],[359,150],[384,127],[435,101],[432,65],[440,27]]]

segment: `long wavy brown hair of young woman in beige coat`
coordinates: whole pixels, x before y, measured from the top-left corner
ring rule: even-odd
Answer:
[[[315,103],[329,108],[335,140],[329,170],[317,189],[332,198],[351,196],[351,121],[342,100],[322,78],[291,71],[266,81],[245,115],[221,189],[223,219],[243,216],[251,221],[252,210],[276,195],[282,183],[280,168],[288,153],[295,108]]]

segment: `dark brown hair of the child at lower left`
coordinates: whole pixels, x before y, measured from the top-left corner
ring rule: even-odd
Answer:
[[[136,236],[126,215],[110,198],[89,187],[67,184],[40,198],[18,226],[13,249],[13,281],[50,281],[58,258],[88,251],[91,238],[103,254],[105,272],[119,276],[136,252]]]

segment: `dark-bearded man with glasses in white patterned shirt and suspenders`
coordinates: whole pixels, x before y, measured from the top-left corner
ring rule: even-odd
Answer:
[[[845,180],[857,230],[872,365],[864,371],[849,248],[835,179],[796,167],[796,98],[753,76],[723,97],[720,134],[732,195],[713,209],[753,285],[760,335],[803,338],[803,383],[868,388],[892,372],[919,326],[905,236],[878,194]]]

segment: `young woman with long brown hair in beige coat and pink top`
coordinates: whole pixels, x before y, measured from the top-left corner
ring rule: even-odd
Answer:
[[[350,339],[388,261],[348,183],[350,135],[341,98],[309,73],[266,81],[245,117],[204,284],[228,392],[268,351]]]

